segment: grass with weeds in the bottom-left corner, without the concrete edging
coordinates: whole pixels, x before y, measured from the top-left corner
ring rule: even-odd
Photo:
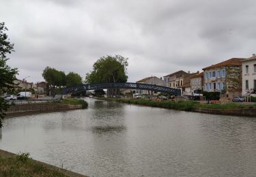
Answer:
[[[53,170],[36,163],[29,158],[29,153],[12,157],[0,155],[0,176],[67,176],[60,170]]]

